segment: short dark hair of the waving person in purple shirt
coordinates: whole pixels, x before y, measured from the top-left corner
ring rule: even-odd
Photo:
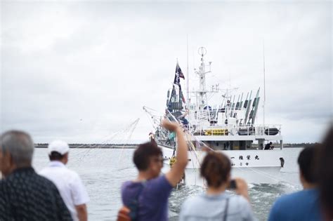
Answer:
[[[133,162],[138,170],[147,170],[151,156],[162,156],[162,149],[157,147],[156,142],[145,142],[138,145],[133,154]]]

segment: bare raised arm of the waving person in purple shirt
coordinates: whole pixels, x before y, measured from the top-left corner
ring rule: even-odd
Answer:
[[[176,163],[172,166],[171,170],[166,173],[166,180],[169,183],[176,187],[177,183],[183,177],[185,172],[186,165],[188,164],[188,146],[184,138],[183,128],[178,123],[171,123],[170,121],[162,121],[162,126],[168,130],[174,131],[177,138],[177,154],[176,154]]]

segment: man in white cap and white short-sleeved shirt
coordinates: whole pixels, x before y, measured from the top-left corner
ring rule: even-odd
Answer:
[[[72,219],[86,221],[88,220],[86,203],[89,202],[89,196],[79,175],[65,166],[69,151],[70,147],[66,142],[61,140],[51,142],[48,145],[48,157],[51,162],[39,174],[51,180],[58,188]]]

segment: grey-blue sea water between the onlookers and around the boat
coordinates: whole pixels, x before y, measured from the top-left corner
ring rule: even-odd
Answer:
[[[278,184],[249,184],[252,208],[259,220],[267,220],[270,207],[282,194],[301,189],[296,163],[301,148],[286,148],[285,168],[277,179]],[[132,162],[133,149],[70,149],[68,168],[77,171],[90,197],[89,220],[116,220],[122,206],[122,182],[136,177]],[[39,171],[48,164],[47,149],[36,149],[34,168]],[[183,186],[174,190],[169,198],[169,220],[178,220],[183,201],[189,196],[204,192],[202,187]]]

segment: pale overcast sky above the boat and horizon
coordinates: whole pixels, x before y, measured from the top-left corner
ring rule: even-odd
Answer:
[[[282,124],[285,142],[321,140],[333,109],[330,1],[1,1],[0,132],[145,140],[142,107],[163,112],[177,59],[187,77],[187,36],[190,88],[204,46],[207,85],[237,93],[263,88],[264,40],[266,123]],[[132,135],[112,137],[138,118]]]

